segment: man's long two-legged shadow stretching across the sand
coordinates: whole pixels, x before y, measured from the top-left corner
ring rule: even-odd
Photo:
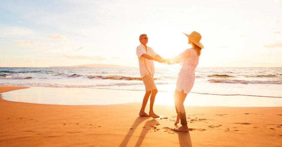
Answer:
[[[134,131],[140,125],[143,121],[149,119],[151,117],[144,117],[140,116],[137,117],[137,119],[134,121],[133,125],[131,126],[131,129],[128,131],[128,133],[125,135],[125,138],[122,140],[122,143],[119,145],[120,147],[127,146],[129,140],[131,139]],[[141,146],[146,134],[151,130],[152,127],[157,125],[158,121],[153,119],[153,120],[148,120],[145,124],[144,127],[139,135],[139,138],[135,144],[136,147]]]

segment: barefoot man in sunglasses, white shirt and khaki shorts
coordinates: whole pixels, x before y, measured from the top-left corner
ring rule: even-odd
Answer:
[[[142,103],[142,107],[141,107],[139,115],[158,118],[159,116],[156,115],[153,111],[155,97],[156,97],[156,94],[158,93],[158,90],[154,82],[154,77],[153,77],[153,75],[155,74],[154,61],[161,62],[163,58],[159,56],[157,53],[155,53],[152,50],[152,48],[146,46],[146,44],[148,43],[148,39],[149,38],[147,37],[146,34],[141,34],[139,36],[139,41],[141,42],[141,44],[137,46],[137,49],[136,49],[136,54],[139,59],[140,74],[141,74],[141,78],[142,78],[142,81],[146,89],[146,93],[143,98],[143,103]],[[149,115],[148,115],[147,113],[145,113],[145,107],[147,105],[150,95],[151,95],[150,110],[149,110]]]

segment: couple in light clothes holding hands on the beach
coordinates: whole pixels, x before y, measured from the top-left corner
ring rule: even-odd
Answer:
[[[140,35],[139,41],[141,42],[141,44],[136,49],[136,54],[139,59],[140,75],[146,89],[142,107],[139,113],[140,116],[147,116],[153,118],[159,117],[153,111],[155,97],[158,93],[153,76],[155,74],[154,61],[167,64],[182,62],[182,68],[179,72],[178,79],[176,82],[176,89],[174,92],[174,102],[177,113],[176,122],[174,124],[178,124],[180,120],[182,126],[176,128],[175,131],[189,131],[187,126],[186,113],[184,109],[184,100],[194,85],[195,68],[199,63],[199,56],[201,54],[201,50],[202,48],[204,48],[204,46],[200,42],[202,36],[198,32],[193,31],[190,35],[185,35],[188,37],[188,44],[191,44],[191,48],[188,48],[182,53],[180,53],[178,56],[169,59],[163,59],[160,55],[155,53],[152,48],[146,46],[149,39],[146,34]],[[147,114],[145,113],[145,107],[147,105],[149,97],[150,110],[149,114]]]

